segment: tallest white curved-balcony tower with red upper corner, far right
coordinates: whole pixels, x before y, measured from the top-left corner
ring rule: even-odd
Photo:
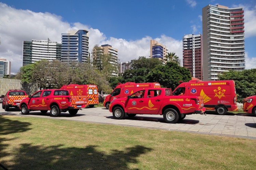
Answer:
[[[245,69],[244,10],[222,5],[202,8],[203,80]]]

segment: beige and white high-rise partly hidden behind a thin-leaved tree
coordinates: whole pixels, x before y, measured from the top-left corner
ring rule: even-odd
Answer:
[[[118,50],[116,48],[113,48],[111,45],[109,44],[105,44],[105,45],[101,45],[100,47],[100,52],[101,54],[111,54],[112,55],[112,61],[110,61],[111,64],[113,64],[114,66],[116,66],[116,68],[118,68]],[[95,48],[93,49],[93,60],[96,60],[96,52],[95,52]],[[113,72],[112,73],[113,76],[117,76],[118,72]]]

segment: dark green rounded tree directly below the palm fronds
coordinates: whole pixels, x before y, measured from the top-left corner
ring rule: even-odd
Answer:
[[[148,82],[158,82],[161,86],[172,90],[180,84],[179,81],[188,82],[190,80],[190,71],[173,62],[157,66],[147,75]]]

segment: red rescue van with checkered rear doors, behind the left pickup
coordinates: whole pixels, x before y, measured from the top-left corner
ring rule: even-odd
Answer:
[[[68,90],[70,96],[75,96],[75,95],[87,96],[89,107],[94,107],[94,105],[99,104],[99,94],[98,94],[97,85],[94,85],[94,84],[85,84],[85,85],[69,84],[69,85],[62,86],[60,89]]]

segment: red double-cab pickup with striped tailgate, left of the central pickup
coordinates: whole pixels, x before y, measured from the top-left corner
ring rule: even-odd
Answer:
[[[79,109],[87,106],[86,96],[70,96],[68,90],[61,89],[40,90],[20,102],[23,115],[29,114],[30,111],[46,113],[50,110],[53,117],[67,111],[69,114],[75,115]]]

